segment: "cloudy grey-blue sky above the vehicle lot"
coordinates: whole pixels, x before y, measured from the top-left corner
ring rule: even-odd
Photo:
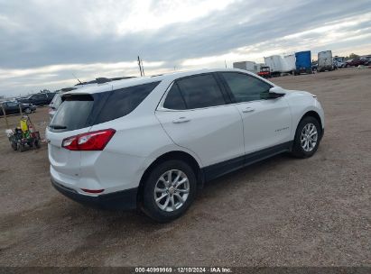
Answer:
[[[0,0],[0,96],[300,50],[371,54],[370,0]]]

